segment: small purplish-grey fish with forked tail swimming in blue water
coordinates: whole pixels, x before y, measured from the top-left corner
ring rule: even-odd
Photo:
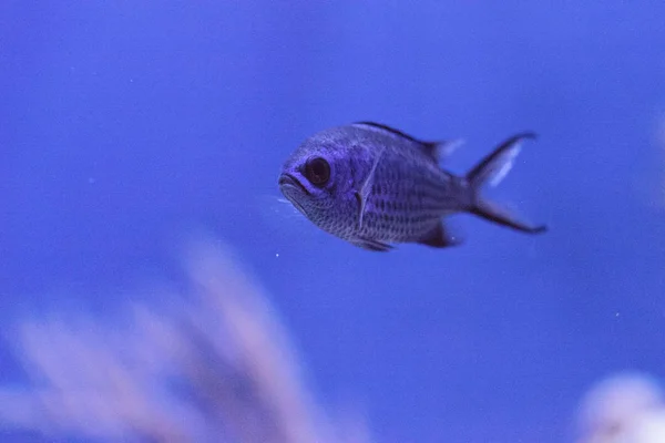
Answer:
[[[447,217],[469,213],[525,234],[530,225],[482,196],[501,182],[533,132],[510,136],[464,175],[441,167],[459,140],[428,142],[376,122],[323,130],[282,167],[282,194],[320,229],[371,251],[398,244],[447,248],[463,243]]]

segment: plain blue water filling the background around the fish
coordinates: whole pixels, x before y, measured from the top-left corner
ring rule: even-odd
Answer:
[[[203,227],[253,266],[324,402],[359,404],[377,441],[564,442],[590,383],[665,367],[663,17],[662,2],[4,1],[1,320],[114,309],[176,274]],[[383,255],[294,218],[282,162],[358,120],[464,137],[454,172],[538,132],[491,195],[550,233],[460,216],[463,247]],[[18,377],[4,353],[0,369]]]

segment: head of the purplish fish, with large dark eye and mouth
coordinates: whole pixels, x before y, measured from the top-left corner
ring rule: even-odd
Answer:
[[[357,215],[352,206],[357,168],[349,145],[339,142],[326,136],[308,138],[288,157],[278,181],[284,196],[300,213],[337,235],[352,226]]]

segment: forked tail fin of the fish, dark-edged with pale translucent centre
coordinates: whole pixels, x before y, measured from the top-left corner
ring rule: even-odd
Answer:
[[[499,225],[508,226],[528,234],[539,234],[548,230],[548,227],[544,225],[531,226],[520,222],[507,209],[483,199],[480,195],[483,185],[490,183],[492,186],[495,186],[503,177],[505,177],[512,167],[515,157],[520,153],[521,142],[524,138],[535,138],[535,134],[528,132],[513,135],[499,145],[467,174],[467,182],[474,193],[474,202],[470,212]]]

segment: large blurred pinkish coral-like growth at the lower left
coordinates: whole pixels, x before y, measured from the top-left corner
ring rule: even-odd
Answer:
[[[310,398],[282,322],[224,248],[197,241],[186,265],[191,290],[160,292],[160,310],[20,323],[9,339],[29,388],[0,390],[0,424],[100,441],[368,441]]]

